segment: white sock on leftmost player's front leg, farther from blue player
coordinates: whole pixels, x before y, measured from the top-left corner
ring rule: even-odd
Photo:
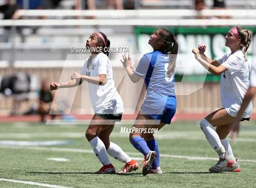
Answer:
[[[110,164],[107,151],[102,140],[96,136],[95,138],[91,139],[90,144],[91,147],[93,147],[93,152],[98,157],[99,161],[101,161],[103,165]]]

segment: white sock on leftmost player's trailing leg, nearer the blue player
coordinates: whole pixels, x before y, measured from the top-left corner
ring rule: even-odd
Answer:
[[[122,163],[128,163],[132,160],[117,144],[110,142],[110,145],[107,149],[108,155],[117,159]]]

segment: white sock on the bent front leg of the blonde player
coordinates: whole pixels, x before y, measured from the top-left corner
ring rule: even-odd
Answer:
[[[219,135],[218,133],[216,133],[213,126],[206,119],[202,119],[200,121],[200,127],[204,132],[208,143],[218,153],[219,157],[225,158],[226,150],[224,146],[222,146],[221,139],[219,139]]]

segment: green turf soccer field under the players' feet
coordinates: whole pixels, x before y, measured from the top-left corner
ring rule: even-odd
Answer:
[[[147,176],[141,174],[141,167],[126,175],[93,174],[101,164],[84,137],[87,126],[1,123],[0,128],[0,178],[8,180],[32,181],[55,187],[256,187],[256,124],[253,121],[243,123],[236,143],[230,141],[235,156],[240,159],[242,172],[209,173],[208,168],[216,163],[217,156],[197,122],[175,122],[156,134],[160,151],[164,154],[161,157],[163,174]],[[129,135],[120,133],[120,128],[115,127],[111,140],[133,158],[139,158],[141,163],[142,156],[129,143]],[[68,143],[9,146],[6,141]],[[117,170],[124,165],[113,158],[110,160]],[[38,186],[0,181],[0,187]]]

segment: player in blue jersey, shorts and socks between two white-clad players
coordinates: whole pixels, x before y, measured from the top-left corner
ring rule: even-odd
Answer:
[[[144,92],[146,98],[133,127],[137,130],[151,128],[160,130],[165,124],[171,123],[176,112],[174,73],[179,45],[174,35],[167,29],[153,33],[148,44],[154,51],[146,53],[140,59],[136,70],[132,67],[130,56],[123,55],[121,62],[131,81],[135,83],[143,78],[143,88],[146,89]],[[144,155],[143,175],[162,173],[160,152],[153,133],[132,132],[130,142]]]

